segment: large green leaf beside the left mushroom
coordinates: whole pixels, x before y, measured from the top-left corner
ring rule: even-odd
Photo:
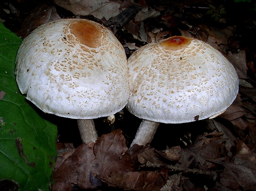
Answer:
[[[0,180],[14,180],[20,191],[49,191],[57,126],[18,90],[14,70],[21,42],[0,23]]]

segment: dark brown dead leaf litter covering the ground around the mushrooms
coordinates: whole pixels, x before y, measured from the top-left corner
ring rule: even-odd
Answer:
[[[74,147],[75,144],[65,140],[57,142],[54,191],[114,187],[138,191],[256,190],[256,50],[252,46],[255,17],[234,15],[239,11],[246,15],[244,7],[240,8],[245,4],[233,2],[234,11],[230,11],[231,6],[224,2],[139,0],[136,15],[125,25],[119,25],[110,23],[110,18],[128,8],[132,1],[97,1],[88,5],[90,2],[85,0],[55,0],[55,3],[57,6],[40,4],[32,14],[26,12],[27,17],[16,33],[25,37],[38,25],[63,17],[87,18],[115,28],[113,32],[127,57],[137,48],[168,36],[199,38],[230,60],[240,85],[238,97],[224,114],[204,120],[203,125],[185,123],[178,126],[180,131],[168,130],[169,135],[156,135],[151,144],[154,147],[134,145],[128,149],[139,124],[135,121],[139,119],[125,109],[123,117],[113,124],[104,123],[106,119],[96,121],[102,136],[95,144],[79,143]],[[176,127],[163,126],[162,129]],[[199,131],[201,126],[203,130]],[[169,139],[164,140],[166,137]]]

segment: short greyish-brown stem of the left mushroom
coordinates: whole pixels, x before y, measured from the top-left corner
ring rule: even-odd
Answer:
[[[98,135],[95,129],[93,119],[77,119],[77,125],[81,139],[84,143],[95,143]]]

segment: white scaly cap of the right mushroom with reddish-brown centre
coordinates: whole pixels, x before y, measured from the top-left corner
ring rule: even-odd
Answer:
[[[128,59],[127,109],[141,119],[187,123],[224,112],[238,94],[230,62],[203,41],[171,37],[141,47]]]

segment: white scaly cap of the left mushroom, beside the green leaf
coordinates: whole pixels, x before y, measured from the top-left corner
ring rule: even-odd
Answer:
[[[15,73],[21,93],[45,113],[94,119],[128,102],[124,48],[93,21],[63,19],[36,28],[18,50]]]

